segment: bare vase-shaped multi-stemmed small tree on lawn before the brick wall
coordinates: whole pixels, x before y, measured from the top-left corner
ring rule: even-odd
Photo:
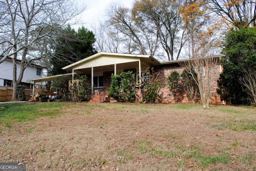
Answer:
[[[199,41],[195,40],[194,41]],[[180,65],[191,74],[198,85],[202,105],[209,108],[210,91],[213,84],[214,70],[220,65],[220,58],[216,56],[216,49],[210,43],[210,39],[201,37],[201,43],[191,42],[189,46],[189,59],[180,62]],[[195,73],[195,74],[194,74]]]

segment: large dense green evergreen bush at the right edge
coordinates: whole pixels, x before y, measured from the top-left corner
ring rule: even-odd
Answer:
[[[231,104],[256,103],[256,28],[232,30],[224,42],[217,91]]]

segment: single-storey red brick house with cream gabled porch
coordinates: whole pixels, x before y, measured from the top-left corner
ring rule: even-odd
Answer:
[[[220,58],[220,56],[216,56],[216,58]],[[159,73],[158,77],[162,83],[162,88],[159,91],[159,101],[162,103],[172,103],[166,78],[172,71],[178,71],[180,74],[182,73],[184,68],[182,68],[178,62],[180,61],[159,62],[150,55],[99,52],[62,69],[72,72],[73,77],[76,73],[86,74],[88,78],[88,86],[92,88],[92,92],[100,94],[101,92],[106,92],[108,90],[112,74],[132,71],[133,73],[136,73],[136,81],[138,83],[140,81],[140,79],[138,79],[140,78],[139,76],[141,76],[147,68],[154,68],[154,72]],[[220,95],[216,92],[216,81],[221,72],[222,66],[216,66],[212,73],[214,79],[212,87],[210,88],[210,103],[224,104],[224,101],[220,99]],[[102,101],[102,98],[100,98],[98,102],[100,101]],[[200,94],[198,93],[196,102],[200,103],[200,101]],[[179,82],[179,87],[174,91],[174,102],[191,102],[188,100],[186,93],[182,89],[181,81]]]

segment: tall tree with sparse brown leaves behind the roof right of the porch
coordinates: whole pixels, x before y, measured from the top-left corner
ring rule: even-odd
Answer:
[[[168,60],[179,59],[180,52],[186,40],[184,39],[185,29],[182,27],[179,8],[181,0],[138,0],[134,2],[132,15],[136,24],[144,24],[152,27],[159,42],[166,52]],[[179,36],[180,35],[180,36]],[[176,50],[177,48],[177,50]]]

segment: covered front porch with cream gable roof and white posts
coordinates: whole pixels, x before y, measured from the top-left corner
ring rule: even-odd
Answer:
[[[139,78],[144,70],[159,64],[158,60],[149,55],[100,52],[62,69],[72,72],[72,83],[74,74],[85,74],[92,93],[105,95],[110,87],[112,74],[132,71],[136,74],[137,82],[140,82]]]

